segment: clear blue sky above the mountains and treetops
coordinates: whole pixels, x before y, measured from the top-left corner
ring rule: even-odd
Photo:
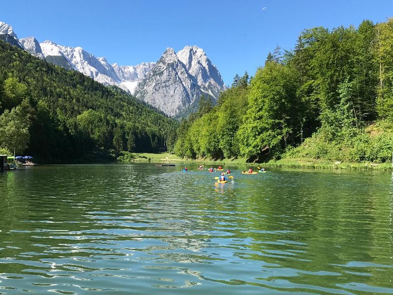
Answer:
[[[157,61],[167,47],[197,45],[226,84],[237,73],[253,75],[277,44],[293,48],[305,28],[388,17],[392,0],[13,0],[0,11],[19,38],[81,46],[119,65]]]

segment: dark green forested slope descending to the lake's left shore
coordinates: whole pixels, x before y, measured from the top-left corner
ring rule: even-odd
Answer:
[[[158,152],[177,123],[117,87],[105,87],[0,41],[0,152],[40,162]]]

